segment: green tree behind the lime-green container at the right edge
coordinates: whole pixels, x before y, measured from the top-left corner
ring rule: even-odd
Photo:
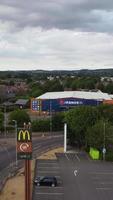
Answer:
[[[106,148],[106,159],[113,160],[113,125],[110,122],[99,120],[86,132],[87,147],[93,147],[100,151]]]

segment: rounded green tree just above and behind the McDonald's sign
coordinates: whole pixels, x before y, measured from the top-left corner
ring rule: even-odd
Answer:
[[[30,122],[30,117],[27,114],[25,110],[15,110],[11,112],[10,116],[10,123],[12,123],[13,120],[17,121],[18,126],[23,127],[24,122],[28,123]]]

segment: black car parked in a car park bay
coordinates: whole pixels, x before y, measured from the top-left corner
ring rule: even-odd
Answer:
[[[39,177],[39,178],[35,179],[34,184],[38,185],[38,186],[52,186],[52,187],[55,187],[55,186],[57,186],[57,179],[54,176]]]

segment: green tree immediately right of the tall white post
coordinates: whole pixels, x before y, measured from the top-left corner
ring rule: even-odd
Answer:
[[[66,113],[65,120],[69,128],[69,140],[85,145],[85,133],[87,127],[95,124],[99,118],[96,107],[76,107]]]

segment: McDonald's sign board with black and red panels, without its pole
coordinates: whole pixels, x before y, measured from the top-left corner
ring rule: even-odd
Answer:
[[[29,129],[17,131],[17,159],[32,159],[32,135]]]

